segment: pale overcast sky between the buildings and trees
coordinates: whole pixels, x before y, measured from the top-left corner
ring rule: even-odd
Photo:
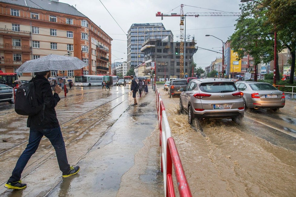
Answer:
[[[67,3],[74,7],[76,5],[78,11],[90,18],[90,20],[113,38],[111,43],[112,63],[118,58],[127,60],[126,34],[133,23],[161,22],[167,30],[173,32],[174,41],[178,40],[177,36],[180,34],[180,18],[163,17],[163,20],[161,20],[161,17],[155,16],[158,11],[161,13],[180,13],[180,5],[182,3],[185,5],[183,7],[184,14],[187,12],[240,12],[240,0],[101,0],[123,29],[124,33],[109,15],[100,0],[59,0],[59,2]],[[205,35],[213,35],[225,42],[234,32],[236,19],[237,17],[186,17],[186,36],[195,36],[199,47],[221,50],[219,52],[222,52],[222,42],[214,37],[206,37]],[[193,58],[197,66],[205,67],[209,66],[216,57],[221,56],[219,53],[199,49]],[[115,60],[115,62],[117,61],[120,60]]]

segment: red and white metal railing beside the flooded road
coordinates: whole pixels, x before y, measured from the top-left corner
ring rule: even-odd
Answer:
[[[183,166],[179,157],[179,153],[173,137],[171,137],[171,129],[166,116],[166,110],[160,96],[160,92],[156,87],[156,109],[158,117],[158,126],[160,129],[160,146],[161,146],[161,172],[163,172],[163,182],[166,197],[175,197],[174,183],[172,177],[172,167],[176,175],[179,195],[181,197],[192,196],[188,182],[183,170]]]

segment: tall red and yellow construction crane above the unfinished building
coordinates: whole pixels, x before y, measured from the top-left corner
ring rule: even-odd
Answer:
[[[180,14],[177,13],[171,13],[171,14],[163,14],[160,12],[156,13],[156,16],[160,16],[161,20],[163,20],[163,17],[165,16],[179,16],[180,17],[180,78],[184,78],[184,20],[186,16],[239,16],[240,12],[201,12],[201,13],[195,13],[195,12],[187,12],[185,15],[183,13],[183,7],[184,4],[180,5],[181,10]],[[185,46],[186,47],[186,46]],[[224,52],[223,52],[224,53]],[[222,71],[223,71],[223,65],[222,65]]]

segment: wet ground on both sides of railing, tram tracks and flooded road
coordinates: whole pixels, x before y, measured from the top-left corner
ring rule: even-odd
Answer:
[[[3,185],[28,128],[13,105],[0,105],[1,139],[7,140],[0,142],[0,196],[163,196],[155,94],[149,91],[131,107],[128,87],[74,87],[56,111],[69,163],[81,171],[62,179],[44,138],[22,174],[28,188],[14,192]],[[247,111],[242,126],[227,119],[189,126],[187,115],[179,114],[179,97],[160,93],[192,196],[296,195],[296,102],[287,100],[278,113]]]

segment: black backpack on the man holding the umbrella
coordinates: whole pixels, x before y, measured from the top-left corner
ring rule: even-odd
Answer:
[[[45,105],[44,105],[45,107]],[[32,116],[41,111],[35,94],[35,84],[31,80],[21,85],[15,92],[15,112],[19,115]]]

